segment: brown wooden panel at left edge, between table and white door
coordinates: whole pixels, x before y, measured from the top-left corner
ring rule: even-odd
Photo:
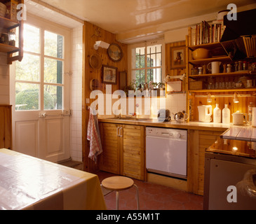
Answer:
[[[0,105],[0,148],[12,148],[11,106]]]

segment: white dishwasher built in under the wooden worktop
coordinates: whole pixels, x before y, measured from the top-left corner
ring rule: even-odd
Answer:
[[[146,168],[187,179],[187,130],[146,127]]]

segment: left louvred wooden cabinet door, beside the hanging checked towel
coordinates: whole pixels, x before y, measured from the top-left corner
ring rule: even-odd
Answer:
[[[120,125],[101,123],[102,155],[100,155],[100,169],[112,174],[120,174],[119,137],[117,129]]]

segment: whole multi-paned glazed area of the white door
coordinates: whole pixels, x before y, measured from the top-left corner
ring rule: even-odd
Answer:
[[[24,25],[24,56],[15,62],[15,109],[62,110],[64,37]]]

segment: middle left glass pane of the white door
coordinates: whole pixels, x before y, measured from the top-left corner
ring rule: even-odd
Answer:
[[[24,54],[21,62],[15,62],[16,80],[39,81],[40,57]]]

